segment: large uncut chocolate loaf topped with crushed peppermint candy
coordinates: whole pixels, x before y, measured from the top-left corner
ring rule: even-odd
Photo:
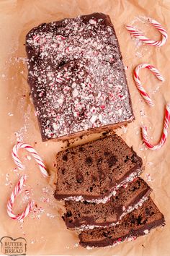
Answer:
[[[43,23],[27,34],[26,51],[42,140],[100,132],[134,119],[108,15]]]

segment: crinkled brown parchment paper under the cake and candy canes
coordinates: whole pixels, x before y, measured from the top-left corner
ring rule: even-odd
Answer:
[[[12,161],[12,145],[19,140],[33,145],[53,170],[55,154],[67,143],[42,142],[35,117],[35,110],[27,85],[24,38],[26,33],[41,22],[51,22],[79,14],[104,12],[109,14],[127,67],[126,74],[133,101],[135,121],[117,133],[143,158],[146,166],[143,178],[153,188],[151,197],[164,213],[166,226],[151,231],[148,236],[120,244],[115,248],[87,250],[78,246],[78,236],[68,231],[61,218],[63,205],[53,199],[53,188],[40,174],[29,154],[20,153],[25,165],[18,171]],[[135,24],[146,35],[158,39],[160,35],[150,25],[143,23],[143,17],[153,17],[169,32],[170,2],[121,1],[121,0],[1,0],[0,1],[0,238],[2,236],[24,237],[27,241],[27,255],[170,255],[170,136],[161,150],[152,151],[144,147],[140,136],[140,125],[146,124],[151,142],[158,142],[164,120],[164,108],[170,101],[169,89],[169,40],[161,48],[143,46],[132,40],[125,30],[125,24]],[[150,108],[140,97],[133,82],[132,71],[137,64],[155,65],[165,77],[159,82],[147,70],[140,71],[141,81],[153,98],[155,106]],[[99,135],[87,137],[76,143],[91,140]],[[19,176],[28,176],[22,194],[17,197],[14,213],[20,213],[30,198],[37,207],[24,221],[14,221],[6,213],[6,202]],[[150,174],[150,175],[149,175]],[[25,195],[30,190],[30,196]],[[2,253],[2,252],[1,252]]]

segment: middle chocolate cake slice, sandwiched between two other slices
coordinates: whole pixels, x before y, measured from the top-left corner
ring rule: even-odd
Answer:
[[[141,206],[148,199],[151,187],[137,178],[127,187],[120,187],[115,197],[105,204],[94,202],[66,201],[63,219],[68,229],[94,229],[97,226],[115,225],[117,221]]]

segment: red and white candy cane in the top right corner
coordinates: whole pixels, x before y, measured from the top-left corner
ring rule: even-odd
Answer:
[[[153,25],[153,27],[156,27],[156,29],[161,33],[161,40],[151,40],[149,38],[146,38],[146,36],[143,35],[142,32],[136,30],[135,27],[133,26],[125,25],[125,27],[130,32],[131,35],[133,35],[135,38],[138,38],[143,43],[146,43],[150,46],[159,46],[159,47],[164,46],[164,44],[166,43],[166,40],[168,39],[168,34],[166,30],[156,20],[148,18],[148,22],[150,22],[151,25]]]

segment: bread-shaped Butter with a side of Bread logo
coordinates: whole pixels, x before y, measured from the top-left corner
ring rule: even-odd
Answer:
[[[10,236],[1,237],[1,252],[4,255],[26,255],[27,241],[23,237],[13,239]]]

